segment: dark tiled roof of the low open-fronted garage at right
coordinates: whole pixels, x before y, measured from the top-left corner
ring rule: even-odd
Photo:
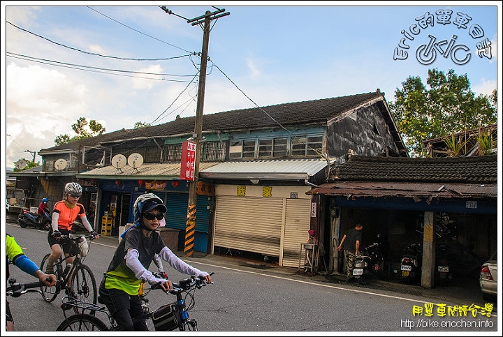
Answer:
[[[496,184],[497,156],[403,158],[351,156],[332,167],[335,181]]]

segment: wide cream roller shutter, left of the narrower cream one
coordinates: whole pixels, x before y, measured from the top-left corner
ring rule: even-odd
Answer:
[[[281,198],[217,195],[214,246],[279,256],[282,209]]]

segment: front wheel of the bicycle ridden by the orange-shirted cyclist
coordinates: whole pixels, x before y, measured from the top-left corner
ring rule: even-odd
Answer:
[[[69,296],[82,302],[90,302],[96,304],[98,298],[98,290],[96,288],[96,280],[91,268],[85,264],[80,264],[73,271],[71,283],[71,294]],[[75,313],[80,313],[80,309],[74,307]]]

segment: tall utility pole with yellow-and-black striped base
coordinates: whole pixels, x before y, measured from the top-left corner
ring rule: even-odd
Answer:
[[[166,6],[161,6],[161,9],[168,14],[173,14]],[[194,181],[189,182],[189,202],[187,204],[187,223],[185,223],[185,256],[191,257],[194,253],[194,240],[196,239],[196,211],[197,211],[197,186],[199,180],[199,161],[201,160],[201,134],[203,133],[203,109],[204,109],[204,95],[206,84],[206,65],[208,46],[210,45],[210,23],[212,20],[218,19],[229,15],[231,13],[225,12],[224,8],[218,9],[214,12],[206,11],[205,15],[195,17],[194,19],[187,20],[187,23],[196,26],[196,24],[203,24],[203,50],[201,51],[201,68],[199,69],[199,86],[198,86],[198,100],[196,107],[196,125],[194,126],[194,140],[196,143],[196,158],[194,158]],[[180,16],[180,15],[177,15]],[[184,17],[183,17],[184,18]]]

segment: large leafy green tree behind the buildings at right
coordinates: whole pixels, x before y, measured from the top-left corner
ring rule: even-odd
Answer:
[[[423,141],[496,123],[496,89],[491,96],[470,89],[468,76],[428,70],[428,89],[421,77],[409,77],[389,103],[391,114],[411,156],[423,156]]]

